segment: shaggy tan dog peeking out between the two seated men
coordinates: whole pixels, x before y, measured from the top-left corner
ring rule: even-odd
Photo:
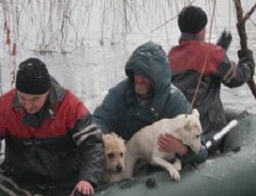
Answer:
[[[125,141],[114,133],[103,135],[105,146],[105,178],[107,182],[117,182],[118,173],[125,168]]]

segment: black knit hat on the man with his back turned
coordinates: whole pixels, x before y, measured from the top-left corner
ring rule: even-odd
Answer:
[[[178,14],[177,25],[181,32],[195,34],[207,26],[207,14],[196,6],[184,7]]]

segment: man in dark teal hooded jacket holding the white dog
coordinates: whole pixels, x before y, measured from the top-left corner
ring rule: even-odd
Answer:
[[[114,131],[125,140],[131,139],[141,128],[162,118],[174,118],[189,112],[189,102],[171,84],[171,72],[165,51],[153,42],[144,43],[132,53],[125,65],[127,78],[109,90],[102,105],[94,112],[94,119],[105,133]],[[172,140],[172,150],[186,161],[202,162],[207,152],[202,147],[195,155],[181,141]],[[162,142],[160,140],[160,147]],[[165,149],[165,145],[162,150]]]

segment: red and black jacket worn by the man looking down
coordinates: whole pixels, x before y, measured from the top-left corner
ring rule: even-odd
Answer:
[[[2,164],[22,182],[102,182],[103,142],[90,112],[52,78],[48,101],[37,115],[21,107],[16,89],[0,97],[0,135],[6,141]]]

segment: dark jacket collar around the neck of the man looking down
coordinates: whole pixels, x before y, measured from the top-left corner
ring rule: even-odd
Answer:
[[[55,104],[59,101],[62,101],[65,96],[65,89],[61,87],[55,80],[55,78],[50,79],[50,88],[49,88],[49,95],[47,100],[44,103],[42,109],[35,113],[29,114],[27,113],[24,108],[21,106],[18,95],[15,95],[15,99],[13,101],[13,107],[17,111],[25,112],[23,118],[23,124],[32,127],[39,127],[45,119],[47,118],[55,118]]]

